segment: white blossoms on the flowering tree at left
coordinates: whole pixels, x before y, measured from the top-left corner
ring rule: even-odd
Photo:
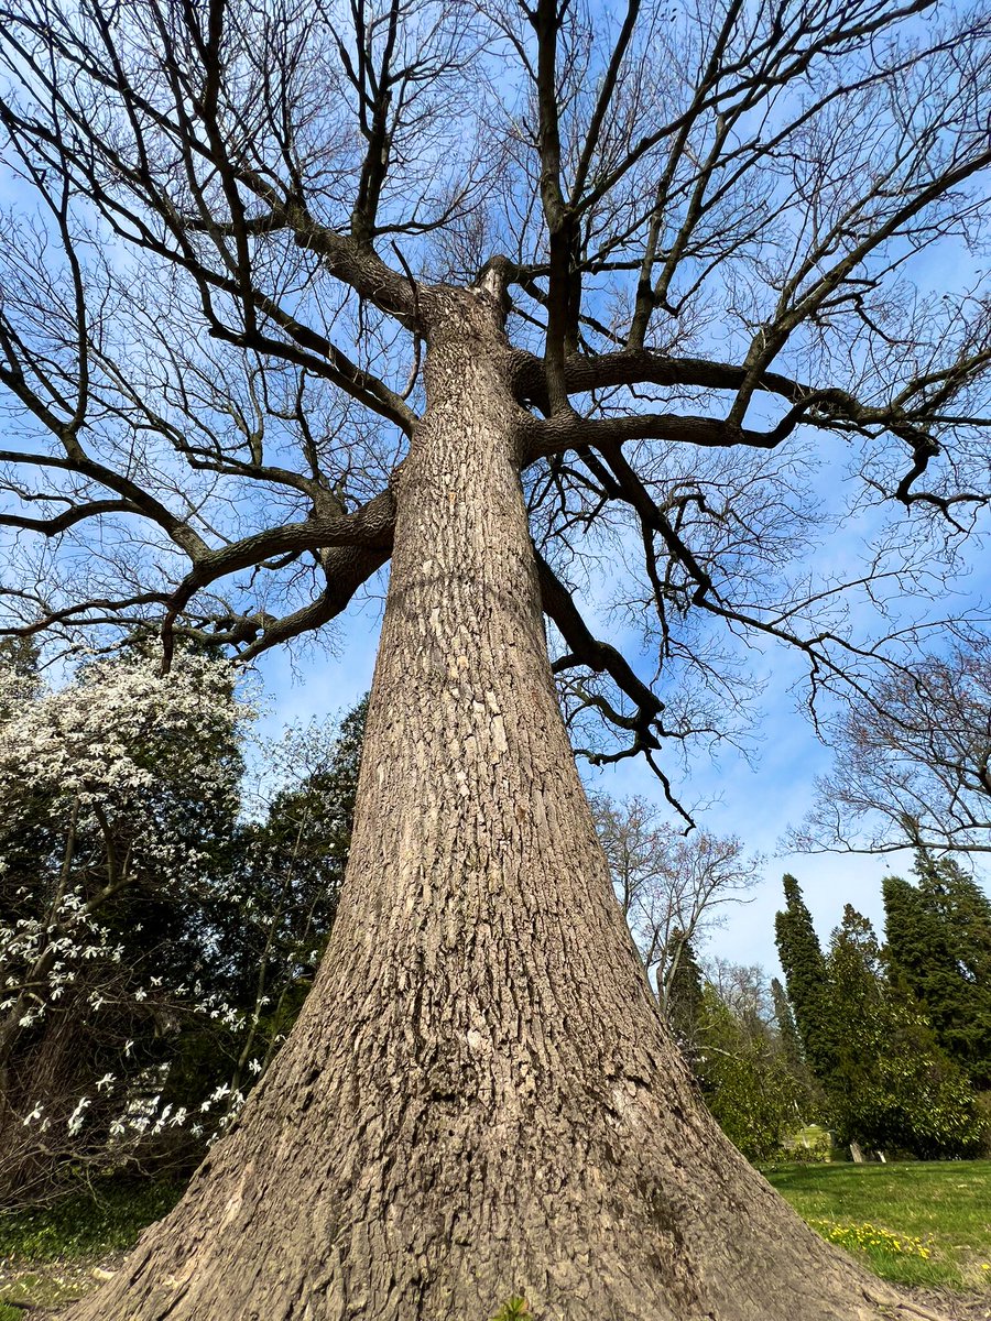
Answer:
[[[230,668],[207,658],[178,657],[172,672],[161,675],[155,662],[100,658],[59,691],[38,694],[25,688],[18,700],[11,700],[15,687],[12,676],[0,668],[0,704],[9,712],[0,723],[0,799],[5,810],[9,804],[16,810],[24,802],[24,811],[30,811],[42,795],[61,804],[54,810],[66,822],[71,818],[81,836],[100,839],[102,823],[107,822],[111,831],[119,831],[127,840],[127,867],[132,875],[155,877],[163,898],[196,893],[209,880],[205,872],[209,856],[189,841],[182,818],[176,816],[176,803],[197,798],[217,802],[218,794],[234,794],[238,768],[225,768],[202,752],[205,746],[233,740],[251,719],[251,707],[231,691]],[[181,787],[180,795],[163,791],[163,766]],[[192,989],[186,984],[170,987],[164,975],[122,970],[126,951],[119,933],[110,929],[104,911],[92,902],[92,877],[77,880],[70,872],[63,881],[57,896],[41,901],[48,906],[40,905],[34,911],[33,888],[20,886],[16,905],[20,911],[0,919],[4,989],[0,1015],[13,1013],[18,1028],[30,1028],[44,1017],[46,1004],[65,1000],[67,989],[82,983],[83,1004],[94,1015],[120,1003],[124,995],[143,1003],[152,989],[156,1004],[168,1007],[182,1000],[184,1013],[202,1015],[235,1032],[244,1026],[244,1015],[219,996],[205,995],[198,980]],[[140,934],[143,923],[136,923],[133,931]],[[140,984],[143,975],[147,984]],[[28,987],[32,995],[37,991],[37,997],[25,1005]],[[135,1058],[133,1040],[126,1040],[120,1049],[126,1058]],[[262,1073],[258,1059],[251,1059],[248,1069],[254,1077]],[[132,1079],[127,1070],[124,1075],[119,1087],[114,1073],[104,1073],[95,1085],[89,1085],[95,1087],[95,1095],[111,1096],[116,1091],[120,1098],[123,1114],[111,1118],[108,1125],[115,1143],[189,1122],[185,1106],[173,1110],[168,1104],[159,1112],[157,1095],[141,1099],[135,1108],[135,1102],[128,1100],[128,1094],[135,1095]],[[147,1075],[143,1079],[141,1086],[148,1090]],[[226,1100],[222,1127],[243,1099],[240,1091],[231,1091],[230,1083],[223,1083],[200,1111],[206,1114]],[[74,1100],[67,1120],[73,1136],[85,1127],[91,1098]],[[22,1123],[40,1123],[45,1128],[52,1120],[38,1103]],[[215,1116],[207,1125],[201,1122],[190,1125],[197,1137],[217,1129]]]

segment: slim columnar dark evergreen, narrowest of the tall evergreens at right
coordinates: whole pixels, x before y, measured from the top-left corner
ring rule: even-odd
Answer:
[[[786,906],[774,918],[774,941],[805,1061],[819,1082],[826,1083],[836,1057],[826,958],[798,881],[785,876],[784,885]]]

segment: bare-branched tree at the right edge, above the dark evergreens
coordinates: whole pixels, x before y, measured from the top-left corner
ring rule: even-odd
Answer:
[[[797,848],[991,852],[991,642],[888,674],[838,721]]]

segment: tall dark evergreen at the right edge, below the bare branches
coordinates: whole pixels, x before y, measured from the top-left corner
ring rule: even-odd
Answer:
[[[991,1089],[991,902],[951,857],[920,852],[916,884],[884,878],[892,975],[916,997],[942,1050]]]

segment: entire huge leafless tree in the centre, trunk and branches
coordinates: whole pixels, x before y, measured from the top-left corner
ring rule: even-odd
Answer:
[[[863,687],[879,653],[844,589],[883,604],[949,564],[943,532],[953,551],[988,499],[987,312],[912,273],[982,242],[991,20],[930,0],[0,20],[9,627],[250,658],[391,561],[313,993],[181,1207],[75,1316],[474,1321],[522,1292],[568,1321],[880,1316],[887,1287],[706,1116],[554,678],[585,752],[662,770],[666,734],[733,716],[740,638],[801,649],[813,690]],[[817,462],[836,477],[815,486]],[[844,489],[912,536],[817,575],[802,550]],[[638,563],[616,604],[651,670],[583,617],[584,551]]]

